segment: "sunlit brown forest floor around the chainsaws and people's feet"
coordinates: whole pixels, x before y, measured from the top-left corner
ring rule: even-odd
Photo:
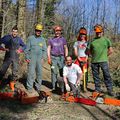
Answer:
[[[51,91],[50,68],[43,65],[42,90]],[[16,87],[25,89],[20,82]],[[82,96],[92,95],[94,84],[88,84],[89,91],[81,92]],[[103,87],[104,88],[104,87]],[[35,91],[34,91],[35,92]],[[35,93],[37,94],[37,93]],[[0,120],[119,120],[120,107],[113,105],[97,104],[88,106],[80,103],[69,103],[59,100],[60,95],[52,93],[47,103],[34,103],[23,105],[19,101],[0,101]]]

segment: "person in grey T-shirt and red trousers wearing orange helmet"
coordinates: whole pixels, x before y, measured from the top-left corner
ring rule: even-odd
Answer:
[[[88,58],[88,56],[85,53],[85,50],[87,48],[87,30],[84,27],[80,28],[77,41],[74,43],[73,48],[74,48],[74,54],[77,57],[74,63],[78,64],[83,71],[82,63],[87,63],[87,58]]]

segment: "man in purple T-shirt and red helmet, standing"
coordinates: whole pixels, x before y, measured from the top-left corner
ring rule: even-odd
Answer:
[[[64,57],[68,55],[67,43],[62,37],[62,27],[53,28],[55,36],[48,41],[48,63],[51,65],[52,89],[57,87],[57,78],[63,76]],[[59,74],[58,74],[59,73]]]

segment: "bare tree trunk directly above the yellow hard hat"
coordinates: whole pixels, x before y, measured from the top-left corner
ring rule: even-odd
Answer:
[[[37,23],[43,24],[44,11],[45,11],[45,1],[46,0],[37,0],[37,2],[36,2]]]

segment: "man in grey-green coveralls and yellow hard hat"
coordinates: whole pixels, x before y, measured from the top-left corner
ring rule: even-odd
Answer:
[[[26,44],[26,62],[28,63],[28,76],[26,87],[28,92],[32,92],[33,83],[35,82],[35,89],[40,92],[42,82],[42,61],[47,56],[47,48],[45,39],[41,36],[43,26],[37,24],[35,26],[35,34],[28,37]],[[36,75],[36,81],[35,76]]]

